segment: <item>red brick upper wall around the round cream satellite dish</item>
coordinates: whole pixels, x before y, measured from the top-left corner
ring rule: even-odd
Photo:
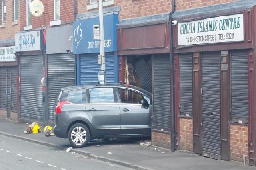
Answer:
[[[50,22],[54,20],[54,1],[41,0],[44,4],[44,13],[40,17],[31,15],[32,29],[38,27],[50,26]],[[62,23],[74,20],[74,1],[73,0],[60,0],[60,20]],[[26,26],[26,0],[20,1],[20,30]]]

